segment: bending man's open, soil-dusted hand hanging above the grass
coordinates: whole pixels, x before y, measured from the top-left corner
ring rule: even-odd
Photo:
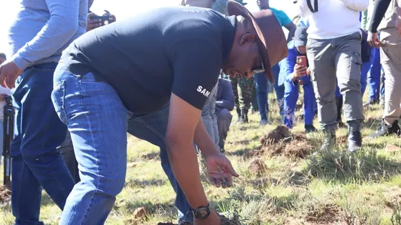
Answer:
[[[232,176],[239,177],[239,174],[232,168],[230,160],[221,153],[206,157],[207,173],[209,173],[210,184],[217,188],[230,188]]]

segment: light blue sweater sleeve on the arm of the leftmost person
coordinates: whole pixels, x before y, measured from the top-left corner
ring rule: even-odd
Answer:
[[[12,56],[12,61],[25,70],[35,61],[53,55],[78,29],[80,0],[46,0],[50,19],[37,35]]]

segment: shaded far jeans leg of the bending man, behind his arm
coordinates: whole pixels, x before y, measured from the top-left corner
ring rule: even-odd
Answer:
[[[183,222],[193,222],[194,215],[190,211],[190,206],[181,190],[176,177],[171,168],[167,148],[165,145],[165,134],[167,131],[167,121],[169,119],[169,105],[149,114],[133,114],[128,120],[128,133],[138,137],[139,139],[148,141],[149,143],[160,148],[160,161],[171,186],[176,192],[176,206],[178,208],[178,217]]]

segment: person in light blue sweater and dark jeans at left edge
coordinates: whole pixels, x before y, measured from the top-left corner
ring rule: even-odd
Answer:
[[[10,59],[0,66],[0,84],[12,88],[12,215],[15,224],[39,221],[41,190],[64,209],[75,182],[57,151],[66,125],[50,99],[62,50],[86,30],[87,0],[21,1],[8,30]]]

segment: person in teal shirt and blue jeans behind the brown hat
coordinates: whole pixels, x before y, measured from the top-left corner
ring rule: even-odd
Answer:
[[[268,0],[258,0],[257,1],[260,10],[270,8]],[[295,30],[297,27],[292,23],[290,17],[282,10],[277,10],[275,8],[270,8],[275,17],[279,21],[280,25],[288,30],[287,42],[292,40],[294,37]],[[284,82],[283,79],[279,78],[280,66],[276,64],[272,66],[274,74],[274,91],[276,92],[277,103],[279,104],[281,119],[284,115]],[[261,115],[260,125],[263,126],[268,123],[268,80],[263,76],[263,73],[254,75],[255,86],[257,87],[257,100],[259,105],[259,113]]]

